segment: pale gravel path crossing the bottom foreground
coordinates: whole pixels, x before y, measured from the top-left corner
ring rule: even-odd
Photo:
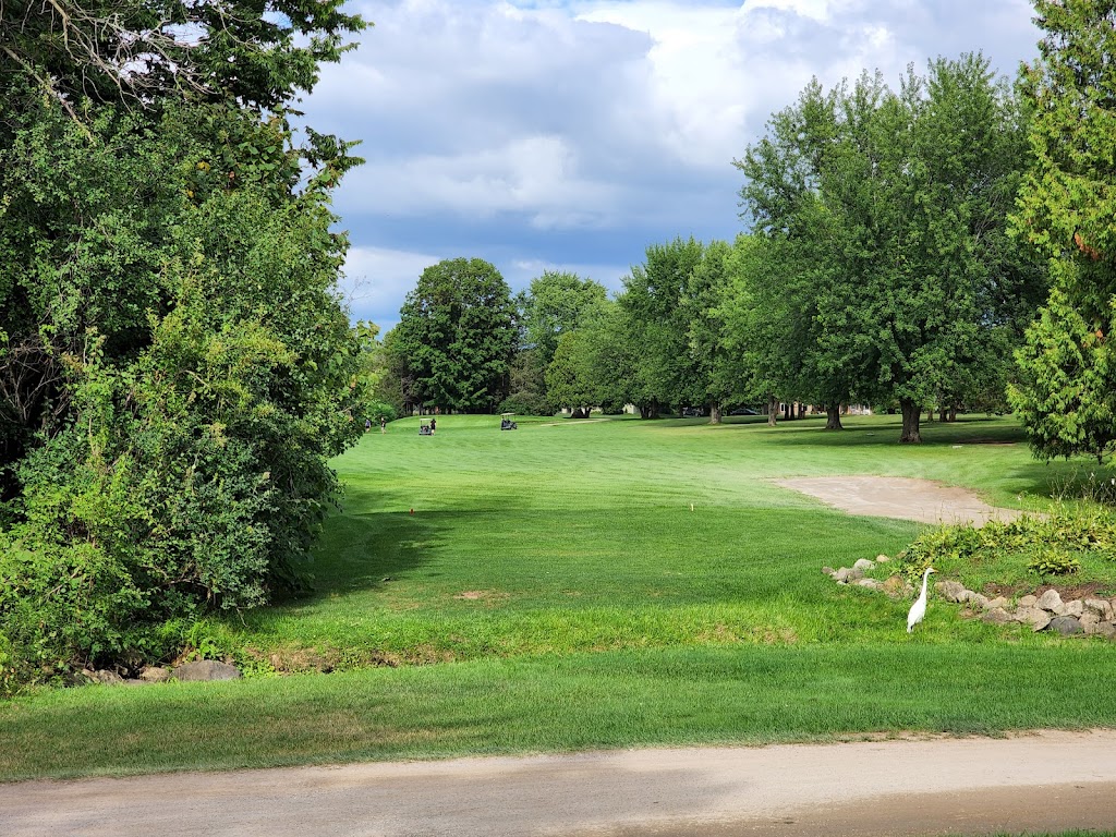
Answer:
[[[0,787],[6,837],[825,837],[1114,825],[1116,730]]]

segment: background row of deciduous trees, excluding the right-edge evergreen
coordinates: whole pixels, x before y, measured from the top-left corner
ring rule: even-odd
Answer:
[[[797,402],[834,429],[859,403],[901,410],[911,442],[923,410],[1003,408],[1011,353],[1046,294],[1045,264],[1008,229],[1027,113],[980,56],[908,71],[898,90],[869,74],[831,90],[814,81],[737,162],[751,232],[731,244],[653,244],[614,299],[545,273],[514,312],[502,279],[480,301],[451,276],[463,260],[427,270],[393,343],[413,403],[633,404],[645,417],[695,406],[716,422],[727,405],[773,419]]]

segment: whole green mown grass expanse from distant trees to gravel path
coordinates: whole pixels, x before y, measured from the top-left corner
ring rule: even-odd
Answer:
[[[1010,420],[843,433],[806,420],[445,416],[369,433],[316,552],[317,594],[214,624],[266,674],[0,706],[0,778],[1116,725],[1116,644],[1057,641],[837,587],[917,525],[771,481],[921,477],[1041,508],[1077,465]],[[412,513],[413,509],[413,513]]]

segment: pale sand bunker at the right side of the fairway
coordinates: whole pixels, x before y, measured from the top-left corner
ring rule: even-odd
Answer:
[[[965,489],[906,477],[810,477],[776,483],[849,514],[876,518],[983,526],[989,520],[1014,520],[1022,513],[989,506]]]

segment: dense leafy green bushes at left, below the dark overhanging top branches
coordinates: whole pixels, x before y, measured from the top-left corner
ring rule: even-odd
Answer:
[[[165,658],[202,613],[302,589],[338,488],[328,459],[363,431],[345,240],[320,184],[290,190],[298,154],[277,122],[169,114],[163,133],[121,117],[92,138],[42,114],[0,148],[19,162],[0,165],[12,206],[55,224],[35,258],[26,225],[0,225],[35,291],[0,330],[0,377],[29,389],[0,411],[6,692]],[[277,180],[201,166],[204,132],[232,128],[277,144]],[[33,406],[19,422],[18,404]]]

